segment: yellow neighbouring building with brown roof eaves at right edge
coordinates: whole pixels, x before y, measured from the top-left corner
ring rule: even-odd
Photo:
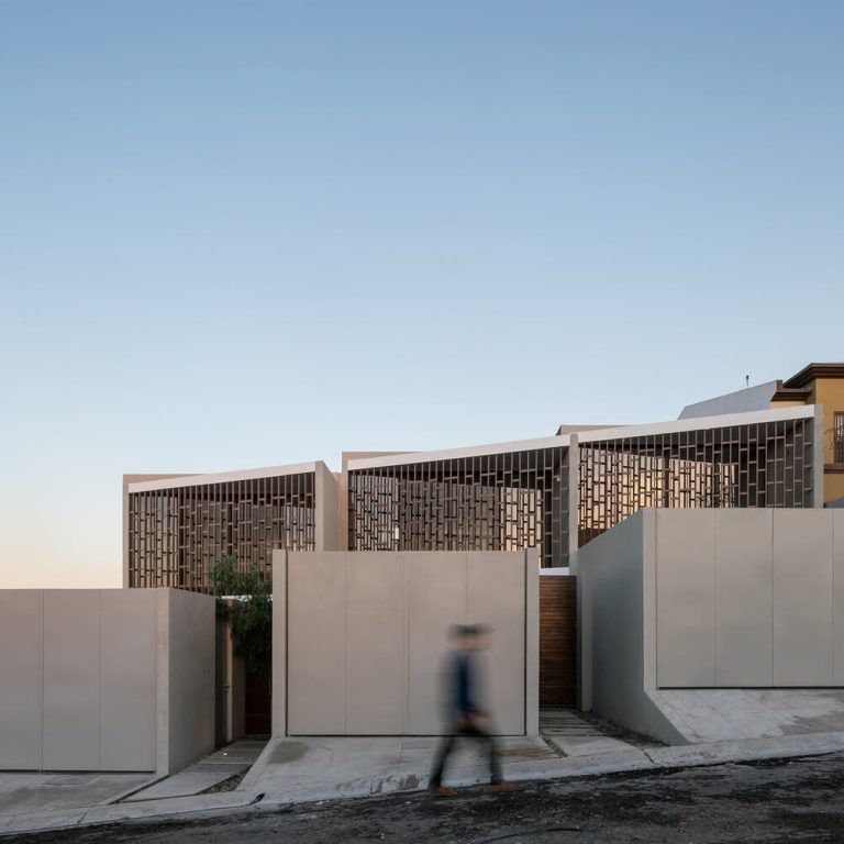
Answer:
[[[795,404],[823,408],[823,500],[844,498],[844,364],[809,364],[777,381],[770,407]]]

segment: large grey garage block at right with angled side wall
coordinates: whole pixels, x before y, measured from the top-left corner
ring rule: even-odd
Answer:
[[[660,688],[844,686],[842,510],[642,510],[578,563],[585,709],[671,741]]]

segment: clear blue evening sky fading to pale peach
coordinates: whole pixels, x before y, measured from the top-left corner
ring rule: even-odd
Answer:
[[[0,588],[123,473],[547,436],[843,360],[844,3],[0,0]]]

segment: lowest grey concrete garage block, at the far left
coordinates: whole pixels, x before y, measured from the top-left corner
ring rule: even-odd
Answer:
[[[201,755],[213,637],[206,596],[0,591],[0,767],[167,773]]]

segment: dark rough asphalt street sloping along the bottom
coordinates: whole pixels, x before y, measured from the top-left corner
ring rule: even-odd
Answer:
[[[213,819],[88,828],[4,844],[231,842],[844,842],[844,754],[400,793]]]

